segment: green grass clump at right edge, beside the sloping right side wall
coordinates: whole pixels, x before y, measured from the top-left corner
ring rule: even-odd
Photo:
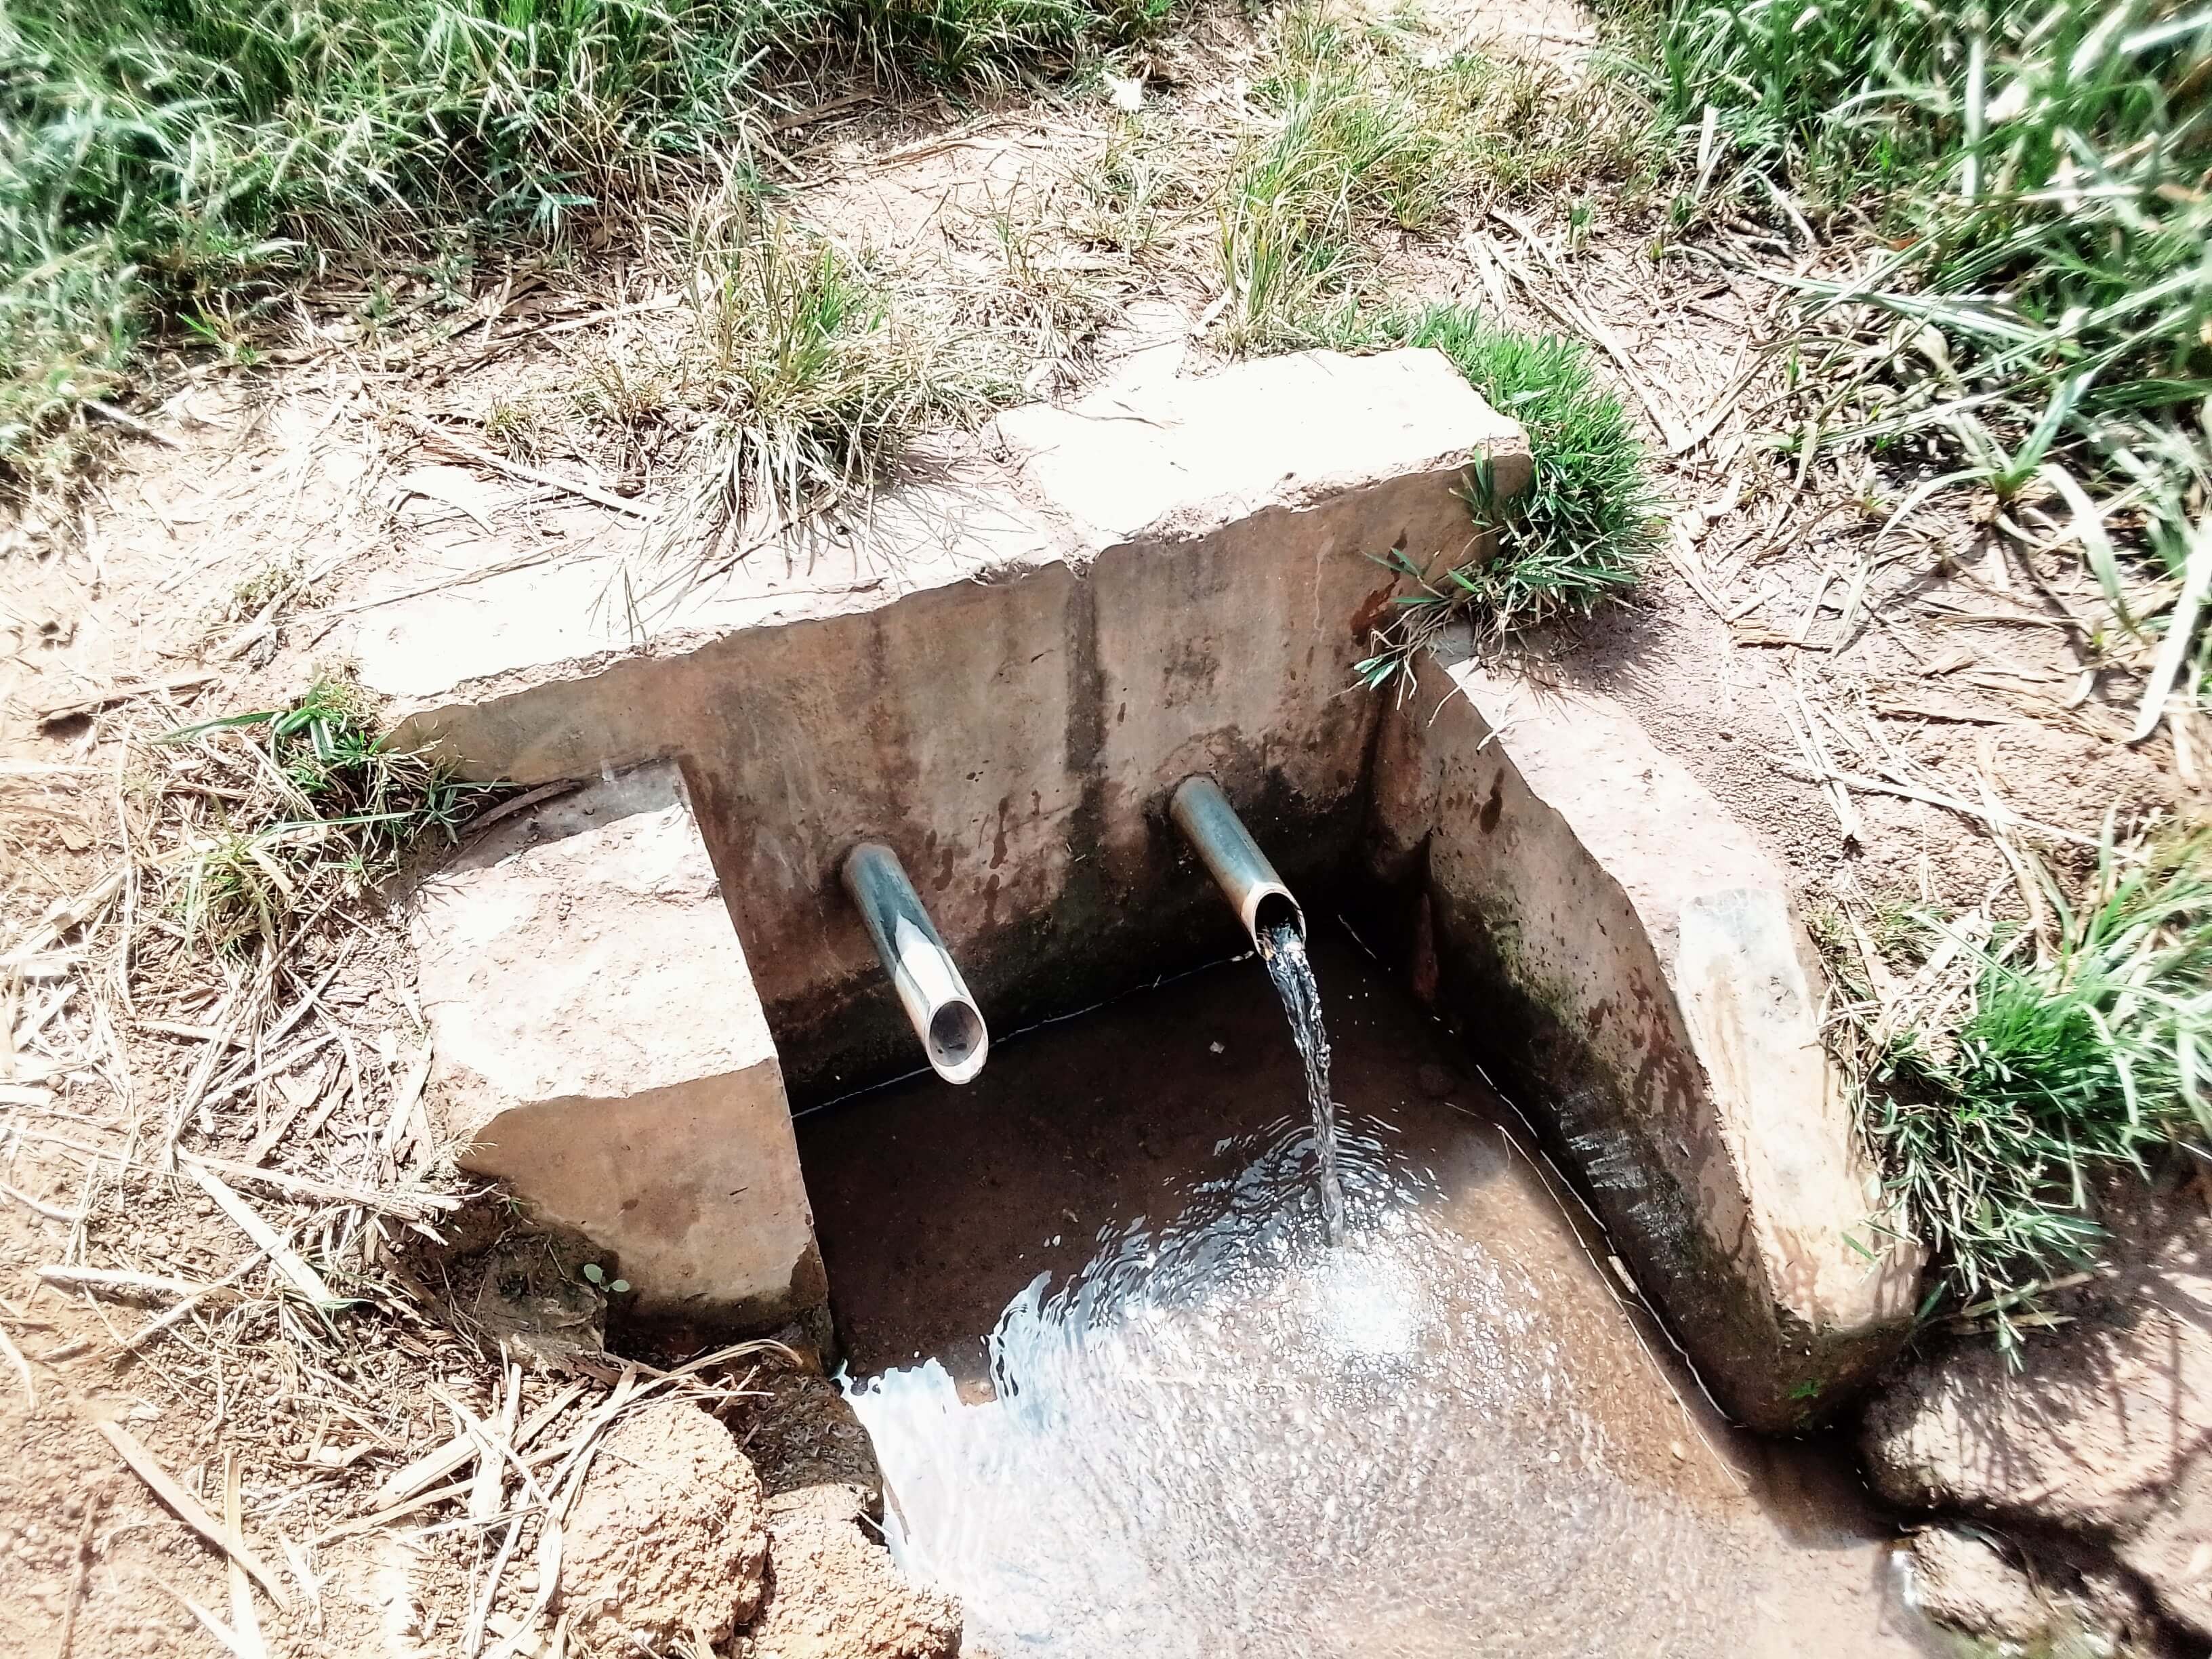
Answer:
[[[1863,1002],[1847,1015],[1865,1044],[1867,1130],[1936,1254],[1933,1305],[2006,1345],[2042,1321],[2039,1285],[2095,1261],[2090,1177],[2212,1133],[2208,856],[2201,832],[2148,856],[2108,838],[2077,902],[2044,878],[2044,949],[2024,931],[1960,949],[1955,995],[1938,975],[1900,1013]],[[1944,929],[1920,927],[1931,953]]]

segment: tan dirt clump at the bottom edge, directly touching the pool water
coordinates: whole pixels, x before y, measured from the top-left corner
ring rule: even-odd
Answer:
[[[732,1659],[947,1659],[960,1604],[909,1584],[891,1553],[843,1520],[770,1520],[768,1599]]]

